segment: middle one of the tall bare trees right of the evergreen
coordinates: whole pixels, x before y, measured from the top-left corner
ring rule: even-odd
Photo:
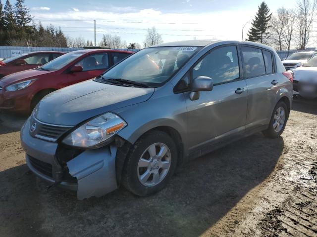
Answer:
[[[291,49],[291,44],[294,40],[297,16],[298,15],[294,9],[286,9],[284,17],[284,30],[282,34],[288,51]]]

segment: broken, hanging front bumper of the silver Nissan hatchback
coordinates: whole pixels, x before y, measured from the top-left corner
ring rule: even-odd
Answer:
[[[115,172],[116,146],[84,150],[70,158],[62,167],[56,153],[58,144],[30,135],[29,119],[21,129],[21,145],[26,152],[26,163],[40,178],[77,191],[78,199],[101,197],[117,189]],[[61,171],[62,170],[62,171]]]

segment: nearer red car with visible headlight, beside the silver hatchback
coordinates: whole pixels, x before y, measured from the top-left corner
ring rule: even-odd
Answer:
[[[30,113],[47,94],[95,78],[132,54],[129,51],[86,49],[64,54],[31,70],[0,79],[0,110]]]

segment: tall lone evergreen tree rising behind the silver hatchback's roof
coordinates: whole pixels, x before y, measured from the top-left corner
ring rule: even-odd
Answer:
[[[269,13],[269,9],[266,3],[263,1],[258,8],[258,12],[255,19],[252,20],[252,27],[249,30],[249,41],[261,42],[268,36],[269,20],[272,13]]]

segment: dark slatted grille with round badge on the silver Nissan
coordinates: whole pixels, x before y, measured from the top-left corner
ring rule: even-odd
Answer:
[[[33,124],[35,124],[35,130],[30,130],[32,136],[53,142],[72,127],[46,124],[35,118],[31,119],[31,128]]]

